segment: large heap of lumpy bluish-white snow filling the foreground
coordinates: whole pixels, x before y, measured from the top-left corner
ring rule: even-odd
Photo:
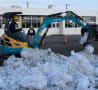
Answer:
[[[0,90],[97,90],[98,56],[91,45],[70,56],[24,48],[0,67]]]

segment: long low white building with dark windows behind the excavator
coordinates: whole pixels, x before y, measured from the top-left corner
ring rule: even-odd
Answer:
[[[49,6],[49,8],[15,8],[15,7],[0,7],[0,35],[4,32],[5,19],[2,15],[5,12],[22,12],[22,28],[25,32],[33,25],[37,31],[41,24],[41,17],[51,15],[58,12],[65,12],[65,9],[56,9],[56,7]],[[85,23],[98,24],[98,11],[82,11],[71,10],[77,15],[81,16]],[[81,27],[70,20],[55,22],[50,25],[48,35],[69,35],[80,34]]]

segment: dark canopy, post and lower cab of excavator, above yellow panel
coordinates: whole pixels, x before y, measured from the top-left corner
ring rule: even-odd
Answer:
[[[9,25],[10,25],[10,22],[12,21],[12,18],[14,16],[16,16],[17,14],[22,14],[22,12],[7,12],[7,13],[4,13],[3,15],[3,18],[6,19],[6,24],[5,24],[5,33],[7,34],[7,36],[15,39],[15,40],[18,40],[18,41],[21,41],[21,42],[26,42],[26,35],[24,34],[22,28],[21,27],[21,18],[19,19],[19,25],[20,25],[20,29],[17,29],[16,31],[14,30],[10,30],[9,28]],[[13,32],[12,32],[13,31]]]

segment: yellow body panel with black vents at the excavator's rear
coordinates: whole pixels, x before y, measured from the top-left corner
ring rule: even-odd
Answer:
[[[27,42],[15,40],[8,37],[6,34],[2,35],[1,40],[4,42],[5,46],[8,46],[8,48],[24,48],[28,46]]]

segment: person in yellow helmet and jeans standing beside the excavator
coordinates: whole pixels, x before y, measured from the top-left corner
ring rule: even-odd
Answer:
[[[33,46],[32,44],[33,44],[34,36],[35,36],[35,30],[33,26],[30,26],[30,29],[28,30],[28,33],[27,33],[27,41],[28,41],[29,47]]]

